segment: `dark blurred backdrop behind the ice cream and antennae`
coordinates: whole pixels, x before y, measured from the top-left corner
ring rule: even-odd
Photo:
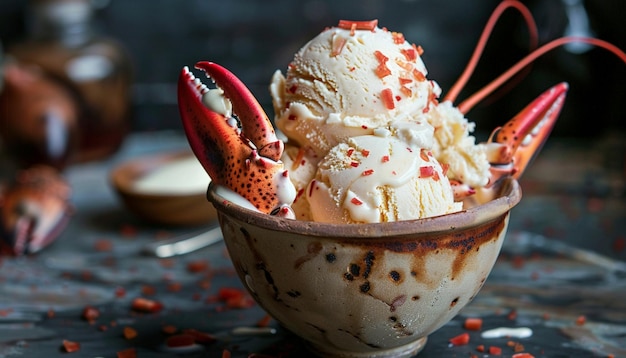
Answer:
[[[133,130],[177,129],[176,80],[184,65],[218,62],[247,83],[273,116],[268,92],[276,69],[284,71],[295,51],[339,19],[379,19],[425,49],[429,77],[448,89],[461,73],[491,11],[499,1],[466,0],[94,0],[95,25],[117,39],[134,65]],[[538,23],[540,43],[563,36],[572,14],[588,16],[596,37],[626,49],[623,0],[524,1]],[[24,0],[0,2],[0,41],[10,47],[26,28]],[[585,18],[582,28],[585,30]],[[528,50],[521,16],[505,13],[461,99],[487,83]],[[548,87],[571,89],[554,135],[598,137],[624,131],[626,66],[604,50],[565,48],[542,57],[518,86],[472,110],[479,132],[504,123]],[[479,138],[481,139],[481,138]]]

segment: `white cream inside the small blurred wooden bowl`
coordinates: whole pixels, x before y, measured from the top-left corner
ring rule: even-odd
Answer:
[[[146,194],[197,194],[206,192],[211,178],[196,157],[165,163],[135,181],[133,188]]]

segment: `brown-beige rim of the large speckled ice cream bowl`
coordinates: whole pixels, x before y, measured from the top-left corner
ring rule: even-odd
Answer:
[[[415,220],[367,224],[329,224],[305,220],[280,218],[244,208],[216,193],[214,182],[209,184],[207,199],[218,212],[264,229],[291,232],[315,237],[368,237],[402,236],[450,232],[485,224],[507,214],[522,197],[519,182],[512,177],[497,183],[497,198],[455,213]]]

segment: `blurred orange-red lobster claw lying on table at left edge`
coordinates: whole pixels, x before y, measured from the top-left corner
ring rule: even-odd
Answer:
[[[20,171],[2,191],[0,252],[33,254],[56,240],[70,217],[70,187],[52,167]]]

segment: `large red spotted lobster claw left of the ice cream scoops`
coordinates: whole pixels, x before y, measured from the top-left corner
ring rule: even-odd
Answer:
[[[293,202],[295,188],[280,161],[284,143],[261,105],[224,67],[198,62],[196,68],[218,89],[209,89],[187,67],[180,74],[178,107],[193,153],[214,184],[231,189],[261,212],[291,216],[287,204]]]

